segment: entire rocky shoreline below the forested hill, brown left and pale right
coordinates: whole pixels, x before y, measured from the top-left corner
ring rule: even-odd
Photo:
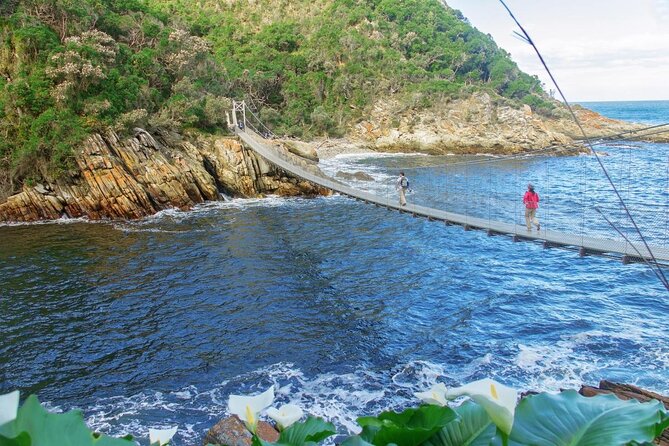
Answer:
[[[644,128],[584,108],[576,111],[593,138]],[[564,110],[560,113],[564,115]],[[584,150],[579,133],[568,116],[546,118],[529,106],[513,108],[495,102],[487,93],[476,93],[429,109],[402,109],[399,102],[386,100],[346,138],[309,143],[283,139],[278,145],[295,163],[318,170],[319,158],[350,153],[505,155],[555,147],[556,155],[573,154]],[[645,139],[666,142],[669,135]],[[169,208],[190,209],[219,200],[221,194],[330,194],[265,162],[236,137],[135,129],[133,136],[121,138],[110,131],[91,136],[76,152],[75,164],[66,176],[25,186],[0,202],[0,222],[137,219]]]

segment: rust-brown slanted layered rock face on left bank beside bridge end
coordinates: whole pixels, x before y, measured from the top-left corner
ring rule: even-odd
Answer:
[[[66,178],[24,188],[0,203],[0,221],[134,219],[218,200],[219,192],[235,197],[329,194],[266,163],[236,138],[151,135],[141,129],[123,140],[114,133],[98,134],[75,160],[77,169]]]

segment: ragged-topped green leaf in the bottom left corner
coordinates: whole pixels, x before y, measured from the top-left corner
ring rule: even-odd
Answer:
[[[26,399],[14,421],[0,427],[0,436],[9,439],[21,438],[23,432],[30,435],[30,443],[17,443],[21,446],[135,446],[130,440],[94,434],[79,411],[47,412],[35,395]]]

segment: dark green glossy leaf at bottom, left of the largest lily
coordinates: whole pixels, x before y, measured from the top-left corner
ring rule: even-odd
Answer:
[[[450,407],[423,405],[402,413],[358,418],[358,424],[363,427],[360,437],[375,446],[417,446],[457,417]]]

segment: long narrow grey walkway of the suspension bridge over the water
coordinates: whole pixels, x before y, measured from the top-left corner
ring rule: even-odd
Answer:
[[[400,206],[398,198],[380,197],[378,195],[363,192],[349,187],[330,177],[316,175],[284,159],[275,149],[261,142],[262,138],[251,130],[236,130],[237,135],[256,153],[272,164],[291,174],[331,189],[342,195],[346,195],[366,203],[394,209],[402,213],[425,217],[430,220],[439,220],[447,224],[461,225],[465,229],[479,229],[487,231],[489,235],[510,235],[514,240],[536,240],[544,243],[545,247],[566,247],[578,249],[581,255],[619,255],[623,262],[639,261],[641,258],[649,259],[648,249],[642,243],[628,243],[620,240],[602,239],[584,235],[568,234],[542,229],[541,231],[527,231],[524,225],[504,223],[494,220],[472,217],[469,215],[455,214],[439,209],[407,204]],[[651,246],[655,259],[663,264],[669,265],[669,249]]]

